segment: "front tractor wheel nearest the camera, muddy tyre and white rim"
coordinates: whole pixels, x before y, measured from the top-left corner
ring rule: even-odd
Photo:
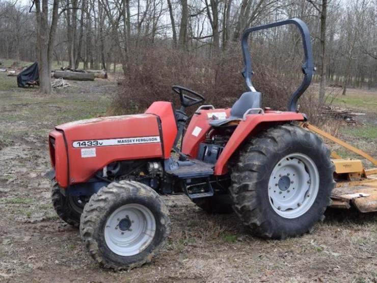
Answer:
[[[80,222],[80,235],[92,258],[104,268],[140,267],[152,260],[169,234],[163,199],[150,187],[120,181],[92,195]]]

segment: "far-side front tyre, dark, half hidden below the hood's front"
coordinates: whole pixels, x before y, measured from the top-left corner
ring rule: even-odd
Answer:
[[[51,200],[53,208],[63,221],[74,227],[80,225],[80,217],[88,201],[87,196],[66,197],[60,192],[59,184],[55,183],[51,189]]]

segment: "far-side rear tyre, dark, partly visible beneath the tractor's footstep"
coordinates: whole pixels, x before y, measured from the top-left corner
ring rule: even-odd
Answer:
[[[233,212],[230,195],[213,195],[210,197],[194,198],[192,201],[202,210],[214,214],[228,214]]]

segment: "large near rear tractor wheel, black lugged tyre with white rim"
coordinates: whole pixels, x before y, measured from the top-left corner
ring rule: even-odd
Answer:
[[[234,210],[256,236],[297,237],[324,219],[334,188],[330,151],[294,125],[262,132],[241,150],[232,170]]]

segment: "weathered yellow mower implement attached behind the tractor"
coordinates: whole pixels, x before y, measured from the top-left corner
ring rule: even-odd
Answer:
[[[300,126],[357,153],[357,155],[377,166],[377,160],[364,151],[339,140],[308,122],[300,123]],[[331,157],[335,165],[334,180],[336,182],[331,196],[333,200],[331,207],[349,209],[354,206],[360,212],[377,211],[377,168],[364,169],[361,160],[342,159],[334,151],[331,152]]]

